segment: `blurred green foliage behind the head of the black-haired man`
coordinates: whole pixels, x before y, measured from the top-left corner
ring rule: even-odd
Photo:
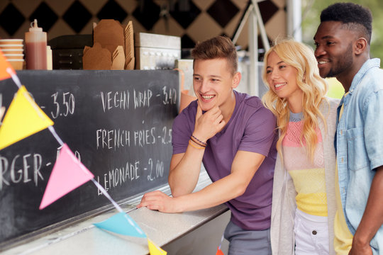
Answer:
[[[302,40],[313,46],[313,36],[319,25],[321,11],[336,2],[353,2],[370,8],[372,12],[372,41],[370,57],[383,60],[383,1],[382,0],[301,0],[302,3]]]

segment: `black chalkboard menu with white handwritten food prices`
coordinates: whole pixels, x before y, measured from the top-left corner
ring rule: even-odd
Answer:
[[[57,135],[115,201],[167,184],[178,73],[54,70],[17,73]],[[0,81],[0,106],[18,90]],[[60,144],[48,129],[0,150],[0,251],[110,201],[88,181],[39,210]]]

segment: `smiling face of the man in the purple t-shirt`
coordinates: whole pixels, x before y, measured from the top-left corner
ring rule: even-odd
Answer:
[[[232,74],[226,59],[194,60],[193,86],[203,111],[218,106],[223,113],[235,106],[233,89],[238,86],[240,73]]]

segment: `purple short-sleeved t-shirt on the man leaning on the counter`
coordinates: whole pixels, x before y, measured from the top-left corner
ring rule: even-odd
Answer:
[[[270,227],[272,181],[277,157],[276,120],[256,96],[234,91],[235,108],[225,128],[207,141],[204,166],[212,181],[231,174],[231,164],[238,150],[266,156],[245,193],[229,200],[231,221],[248,230]],[[186,152],[194,131],[196,101],[175,118],[172,130],[173,154]]]

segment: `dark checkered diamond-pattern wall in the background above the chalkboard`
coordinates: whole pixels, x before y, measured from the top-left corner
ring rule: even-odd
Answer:
[[[286,0],[258,4],[269,39],[286,35]],[[191,48],[214,35],[233,38],[247,6],[248,0],[0,0],[0,38],[24,38],[34,18],[48,40],[91,34],[92,23],[113,18],[133,21],[135,32],[179,36],[182,48]],[[246,26],[238,45],[248,45]]]

